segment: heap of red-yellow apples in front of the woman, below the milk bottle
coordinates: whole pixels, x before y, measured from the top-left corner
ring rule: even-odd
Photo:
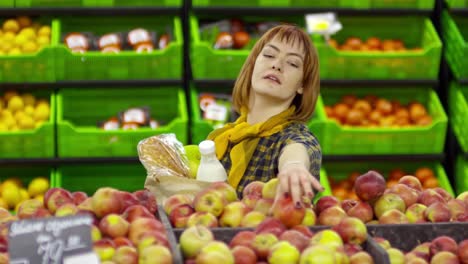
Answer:
[[[236,191],[228,183],[215,182],[198,192],[192,199],[185,194],[167,198],[164,211],[173,227],[184,228],[194,225],[207,227],[256,227],[270,214],[281,220],[287,227],[298,224],[315,224],[315,212],[310,201],[297,209],[291,197],[280,199],[272,208],[276,195],[276,178],[263,183],[249,183],[239,200]]]

